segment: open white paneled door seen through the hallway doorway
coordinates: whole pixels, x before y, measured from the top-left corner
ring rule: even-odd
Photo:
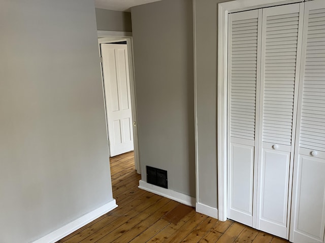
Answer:
[[[110,155],[134,149],[127,47],[101,44]]]

